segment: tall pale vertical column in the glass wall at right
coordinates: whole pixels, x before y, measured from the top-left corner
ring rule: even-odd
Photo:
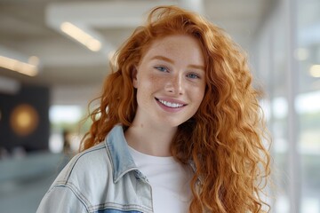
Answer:
[[[298,153],[299,121],[294,101],[298,94],[299,64],[294,58],[298,47],[297,0],[284,0],[287,38],[287,98],[288,98],[288,163],[289,163],[289,201],[290,212],[300,212],[300,154]]]

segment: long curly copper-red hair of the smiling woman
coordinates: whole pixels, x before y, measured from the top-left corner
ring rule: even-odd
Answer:
[[[103,141],[117,123],[124,130],[131,125],[137,109],[132,70],[153,41],[173,34],[194,36],[205,61],[204,99],[172,140],[172,155],[184,164],[192,161],[196,168],[189,212],[264,212],[268,204],[260,193],[266,186],[270,157],[264,146],[268,137],[260,92],[252,87],[244,52],[222,29],[194,12],[156,7],[146,25],[116,52],[81,150]]]

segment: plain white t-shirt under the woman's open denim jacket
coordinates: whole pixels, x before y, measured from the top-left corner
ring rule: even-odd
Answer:
[[[148,178],[152,188],[155,213],[186,213],[192,199],[192,171],[173,157],[142,154],[129,146],[139,170]]]

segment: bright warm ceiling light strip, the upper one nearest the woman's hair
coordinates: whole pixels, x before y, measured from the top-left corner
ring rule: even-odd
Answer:
[[[60,26],[62,32],[68,36],[76,39],[79,43],[84,44],[91,51],[100,51],[101,43],[99,40],[93,38],[81,28],[77,28],[75,25],[70,22],[63,22]]]

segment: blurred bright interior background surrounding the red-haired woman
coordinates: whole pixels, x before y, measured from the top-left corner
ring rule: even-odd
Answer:
[[[320,0],[1,0],[1,213],[36,211],[88,130],[108,59],[161,4],[248,52],[273,138],[271,212],[320,213]]]

